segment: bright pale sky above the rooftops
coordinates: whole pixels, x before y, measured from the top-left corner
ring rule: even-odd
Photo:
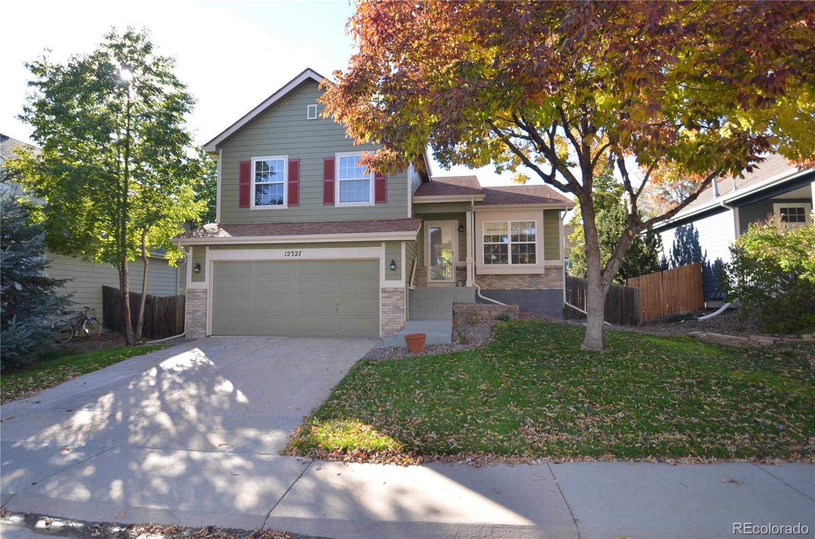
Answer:
[[[196,97],[189,125],[206,142],[304,68],[325,76],[346,68],[353,51],[346,21],[354,11],[337,2],[4,2],[0,32],[0,132],[28,140],[22,112],[26,61],[51,49],[51,59],[90,52],[115,26],[147,27]],[[431,164],[433,173],[451,171]],[[509,184],[511,174],[478,169],[483,185]],[[540,183],[540,180],[534,183]]]

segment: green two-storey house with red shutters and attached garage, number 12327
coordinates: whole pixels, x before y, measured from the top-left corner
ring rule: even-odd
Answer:
[[[306,69],[205,145],[218,158],[217,223],[175,240],[190,259],[188,336],[385,337],[418,316],[414,289],[474,302],[476,284],[562,316],[570,199],[428,177],[426,162],[369,173],[357,160],[377,146],[320,116],[322,80]]]

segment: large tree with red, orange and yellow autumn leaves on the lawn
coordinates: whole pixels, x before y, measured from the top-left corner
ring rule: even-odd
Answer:
[[[813,2],[363,0],[349,28],[357,51],[321,99],[350,137],[381,143],[363,157],[372,169],[407,167],[430,145],[444,166],[494,164],[575,196],[584,348],[603,348],[606,292],[638,234],[763,153],[815,156]],[[601,264],[604,159],[628,206]],[[670,166],[698,182],[648,216],[640,195]]]

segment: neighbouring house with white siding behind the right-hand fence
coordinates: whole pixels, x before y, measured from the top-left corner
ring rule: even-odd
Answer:
[[[769,156],[752,173],[714,182],[699,198],[655,229],[662,235],[663,265],[702,262],[705,300],[719,301],[718,266],[750,223],[777,215],[789,226],[811,224],[815,169],[800,170],[783,156]]]

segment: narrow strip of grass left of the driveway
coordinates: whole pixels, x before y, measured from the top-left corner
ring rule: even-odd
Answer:
[[[65,355],[71,351],[54,348],[43,353],[36,362],[19,369],[3,370],[0,373],[0,397],[2,402],[30,397],[45,388],[113,365],[128,357],[141,356],[168,346],[170,344],[148,344],[71,355]]]

